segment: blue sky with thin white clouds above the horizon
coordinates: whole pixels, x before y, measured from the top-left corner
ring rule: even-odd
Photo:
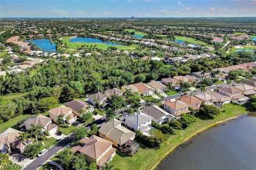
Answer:
[[[256,0],[0,0],[1,17],[256,16]]]

